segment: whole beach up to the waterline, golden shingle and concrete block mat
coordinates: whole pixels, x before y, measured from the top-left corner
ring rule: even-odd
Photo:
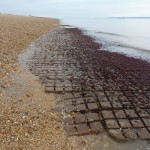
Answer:
[[[0,149],[149,149],[149,62],[57,19],[0,17]]]

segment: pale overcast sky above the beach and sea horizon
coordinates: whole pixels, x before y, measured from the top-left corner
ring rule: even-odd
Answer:
[[[150,16],[150,0],[0,0],[0,12],[62,19]]]

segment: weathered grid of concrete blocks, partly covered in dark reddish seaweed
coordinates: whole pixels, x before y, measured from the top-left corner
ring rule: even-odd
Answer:
[[[150,139],[150,64],[98,50],[79,29],[52,30],[36,42],[28,69],[55,93],[68,135],[103,131]]]

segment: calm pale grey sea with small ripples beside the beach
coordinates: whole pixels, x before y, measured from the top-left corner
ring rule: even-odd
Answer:
[[[62,24],[85,30],[105,50],[150,61],[150,18],[66,19]]]

